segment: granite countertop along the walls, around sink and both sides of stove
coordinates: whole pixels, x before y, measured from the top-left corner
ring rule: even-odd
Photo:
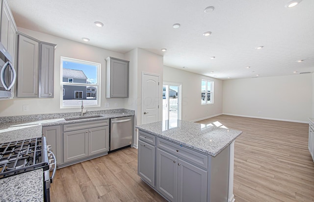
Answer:
[[[64,119],[69,117],[81,117],[80,112],[0,117],[0,143],[41,137],[42,126],[131,116],[134,115],[134,111],[126,109],[91,111],[84,117],[95,115],[101,115],[101,117],[70,121],[66,121]],[[16,176],[0,179],[0,201],[44,201],[43,169],[37,169]]]

